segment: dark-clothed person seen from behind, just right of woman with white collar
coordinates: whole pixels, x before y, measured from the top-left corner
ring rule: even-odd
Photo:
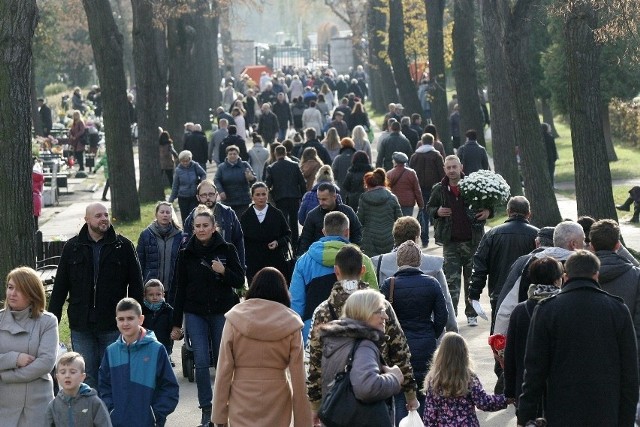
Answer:
[[[278,146],[275,149],[276,161],[267,166],[266,184],[271,191],[271,197],[287,218],[291,228],[291,246],[298,245],[298,209],[300,200],[307,191],[307,183],[296,162],[287,158],[287,149]]]

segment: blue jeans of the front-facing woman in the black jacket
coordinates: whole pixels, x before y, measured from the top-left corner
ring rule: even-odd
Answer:
[[[184,314],[185,326],[191,341],[193,359],[196,368],[196,386],[198,387],[198,404],[200,407],[211,406],[213,391],[211,390],[211,376],[209,366],[209,343],[212,345],[213,360],[218,360],[220,341],[222,340],[222,328],[224,328],[224,314],[211,314],[198,316],[197,314]]]

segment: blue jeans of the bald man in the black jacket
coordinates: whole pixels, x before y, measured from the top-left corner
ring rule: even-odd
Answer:
[[[120,332],[116,331],[76,331],[71,330],[71,347],[84,357],[87,385],[98,388],[98,370],[107,347],[114,343]]]

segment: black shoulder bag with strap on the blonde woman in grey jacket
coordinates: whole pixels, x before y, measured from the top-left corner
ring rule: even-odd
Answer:
[[[338,372],[333,387],[322,399],[318,417],[327,427],[389,427],[390,408],[385,400],[365,403],[358,400],[351,387],[351,365],[353,355],[362,340],[356,340],[351,347],[344,370]]]

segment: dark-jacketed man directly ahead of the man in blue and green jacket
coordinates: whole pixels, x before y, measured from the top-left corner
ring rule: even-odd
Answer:
[[[323,236],[324,216],[329,212],[339,211],[349,218],[349,241],[356,245],[362,242],[362,224],[356,213],[349,205],[338,203],[336,187],[330,182],[323,182],[318,186],[319,205],[311,209],[304,220],[302,234],[298,242],[298,255],[302,255],[309,246]]]

